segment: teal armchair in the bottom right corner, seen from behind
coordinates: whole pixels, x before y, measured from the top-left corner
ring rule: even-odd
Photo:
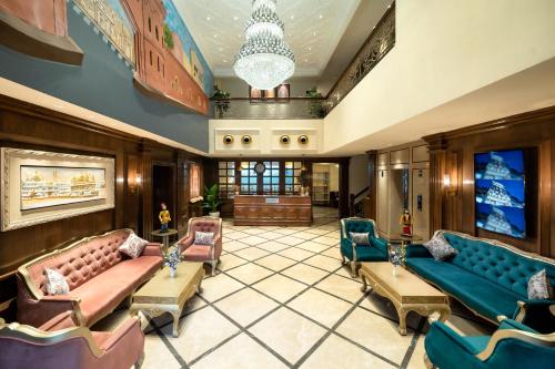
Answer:
[[[493,336],[462,337],[443,322],[426,335],[428,368],[553,368],[555,334],[542,335],[517,321],[501,319]]]

